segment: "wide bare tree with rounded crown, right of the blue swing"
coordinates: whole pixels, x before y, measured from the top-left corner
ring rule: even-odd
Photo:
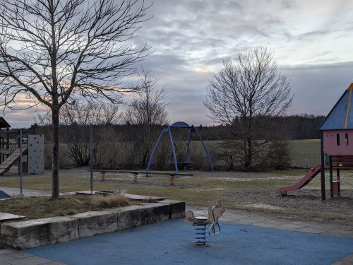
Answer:
[[[223,60],[204,105],[215,122],[232,125],[234,139],[241,141],[243,168],[251,170],[263,163],[254,157],[264,155],[261,146],[268,148],[267,143],[278,137],[276,132],[282,131],[270,118],[286,114],[292,100],[289,81],[278,71],[273,52],[259,47]]]

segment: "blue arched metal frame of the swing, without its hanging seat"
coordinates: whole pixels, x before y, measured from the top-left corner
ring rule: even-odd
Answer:
[[[205,153],[207,155],[208,158],[208,163],[210,164],[211,170],[213,172],[213,163],[210,157],[210,153],[208,153],[208,149],[205,146],[205,143],[203,142],[203,139],[201,138],[201,135],[198,133],[198,130],[196,130],[195,126],[191,125],[189,126],[189,124],[186,124],[186,122],[175,122],[172,125],[169,124],[165,124],[164,128],[162,129],[162,132],[160,134],[160,136],[158,137],[156,143],[155,143],[155,147],[153,147],[152,153],[150,155],[150,160],[148,161],[148,166],[147,166],[147,172],[150,171],[150,166],[152,164],[152,158],[153,155],[155,155],[155,151],[157,150],[157,146],[160,143],[160,140],[162,139],[163,134],[169,134],[169,140],[170,140],[170,145],[172,146],[172,153],[173,153],[173,160],[174,160],[174,167],[175,167],[175,174],[178,175],[179,174],[179,170],[178,170],[178,163],[177,163],[177,155],[175,153],[175,148],[174,148],[174,141],[173,141],[173,136],[172,136],[172,131],[171,128],[183,128],[183,129],[189,129],[189,136],[188,136],[188,143],[186,146],[186,154],[185,154],[185,161],[189,160],[189,156],[190,156],[190,141],[191,141],[191,135],[194,133],[196,133],[196,135],[198,136],[198,139],[200,139],[203,148],[205,149]],[[187,165],[184,166],[184,170],[186,169]]]

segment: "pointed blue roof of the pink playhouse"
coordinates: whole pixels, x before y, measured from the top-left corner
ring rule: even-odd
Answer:
[[[318,126],[318,130],[353,129],[353,83],[337,101],[328,116]]]

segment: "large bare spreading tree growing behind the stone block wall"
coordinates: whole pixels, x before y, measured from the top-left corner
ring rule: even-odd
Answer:
[[[119,102],[147,47],[126,45],[146,19],[138,0],[0,0],[0,105],[52,112],[52,197],[59,197],[59,112],[78,96]],[[125,44],[125,45],[124,45]]]

